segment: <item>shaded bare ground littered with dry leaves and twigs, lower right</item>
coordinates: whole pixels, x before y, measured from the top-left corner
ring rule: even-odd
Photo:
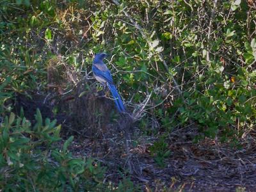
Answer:
[[[136,140],[136,139],[135,139]],[[119,182],[119,171],[127,170],[132,159],[140,175],[127,175],[143,188],[153,191],[255,191],[255,143],[246,150],[234,150],[227,145],[212,145],[212,141],[194,144],[191,141],[172,142],[172,155],[160,168],[150,156],[152,138],[138,138],[139,145],[131,148],[132,157],[125,152],[122,134],[104,140],[74,141],[70,151],[77,157],[94,157],[108,167],[106,180]]]

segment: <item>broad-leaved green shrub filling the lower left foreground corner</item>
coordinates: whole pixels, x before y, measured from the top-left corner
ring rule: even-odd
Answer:
[[[5,191],[102,190],[104,170],[93,159],[74,158],[67,148],[73,137],[59,148],[60,125],[38,110],[36,124],[26,118],[5,116],[0,129],[0,188]]]

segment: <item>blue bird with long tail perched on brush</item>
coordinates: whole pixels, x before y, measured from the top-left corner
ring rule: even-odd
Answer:
[[[125,112],[124,104],[120,95],[118,94],[115,84],[113,83],[112,76],[108,70],[108,67],[103,62],[104,58],[106,58],[108,54],[104,52],[99,52],[95,54],[93,63],[92,63],[92,72],[97,81],[99,81],[104,88],[106,85],[108,86],[110,92],[112,93],[113,99],[115,100],[116,108],[120,113]]]

